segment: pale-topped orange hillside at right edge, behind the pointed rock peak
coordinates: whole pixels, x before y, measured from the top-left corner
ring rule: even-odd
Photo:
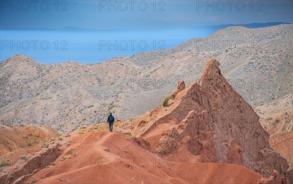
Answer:
[[[293,169],[293,94],[256,106],[264,129],[271,135],[270,145],[287,159]],[[292,170],[293,171],[293,170]],[[292,174],[293,175],[293,174]],[[293,177],[293,176],[292,176]]]

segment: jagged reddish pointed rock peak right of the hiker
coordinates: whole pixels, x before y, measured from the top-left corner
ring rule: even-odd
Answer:
[[[162,130],[159,143],[153,142],[157,154],[176,154],[181,140],[188,137],[189,152],[205,162],[244,165],[265,177],[276,170],[286,181],[287,161],[270,148],[270,135],[258,115],[222,76],[219,65],[209,59],[200,84],[185,88],[184,82],[178,82],[174,103],[148,122],[140,135],[159,131],[158,124],[173,124]]]

